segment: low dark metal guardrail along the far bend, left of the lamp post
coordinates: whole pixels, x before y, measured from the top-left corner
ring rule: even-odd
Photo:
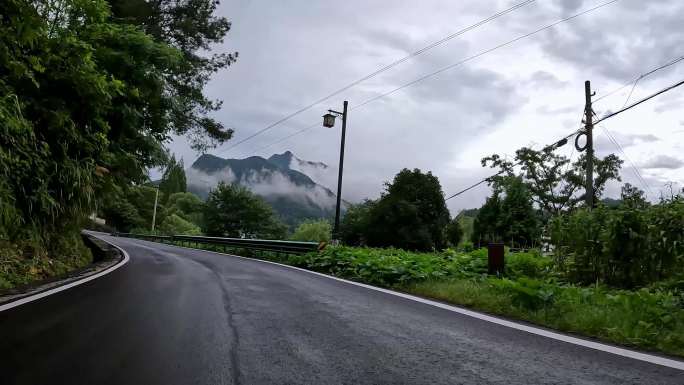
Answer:
[[[221,238],[195,235],[146,235],[131,233],[114,233],[112,235],[127,238],[145,239],[162,243],[187,242],[224,246],[225,248],[233,249],[274,251],[285,254],[310,253],[312,251],[322,250],[325,247],[325,243],[319,244],[316,242],[279,241],[269,239]]]

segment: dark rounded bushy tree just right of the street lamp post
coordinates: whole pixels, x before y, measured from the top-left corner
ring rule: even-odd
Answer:
[[[437,177],[419,169],[401,170],[369,213],[369,246],[409,250],[443,249],[449,210]]]

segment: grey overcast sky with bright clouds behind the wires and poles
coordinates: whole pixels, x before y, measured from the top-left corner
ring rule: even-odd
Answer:
[[[235,138],[210,151],[242,158],[293,151],[336,168],[339,129],[316,127],[327,109],[356,106],[439,68],[581,12],[603,0],[538,0],[455,38],[331,98],[229,151],[226,148],[291,112],[375,70],[522,0],[222,1],[233,23],[217,52],[239,60],[207,89],[224,100],[216,117]],[[401,168],[432,171],[449,195],[491,174],[480,158],[541,148],[579,127],[584,81],[597,97],[684,55],[684,1],[620,0],[510,46],[495,50],[349,114],[343,197],[375,198]],[[638,100],[684,77],[684,62],[639,82]],[[620,108],[631,87],[595,104],[601,116]],[[639,167],[655,199],[667,181],[684,182],[684,87],[607,120],[604,127],[630,162],[623,181],[642,189]],[[597,127],[599,155],[616,152]],[[190,165],[197,154],[184,139],[170,145]],[[568,144],[560,152],[577,153]],[[328,186],[333,188],[334,186]],[[669,193],[669,190],[668,190]],[[452,211],[479,207],[489,190],[449,201]],[[619,195],[610,186],[608,195]]]

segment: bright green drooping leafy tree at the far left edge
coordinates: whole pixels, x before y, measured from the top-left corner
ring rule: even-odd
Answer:
[[[2,1],[0,15],[0,199],[14,206],[21,228],[49,243],[92,207],[118,84],[80,36],[51,33],[30,2]]]

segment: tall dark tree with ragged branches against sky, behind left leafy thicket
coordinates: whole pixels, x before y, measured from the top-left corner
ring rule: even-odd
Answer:
[[[209,117],[221,102],[210,100],[203,89],[211,76],[237,60],[238,54],[220,53],[204,57],[212,44],[221,43],[231,23],[215,15],[216,0],[108,0],[112,16],[122,23],[142,28],[157,42],[180,52],[180,65],[164,74],[169,104],[169,128],[189,134],[198,150],[230,139],[232,129]]]

